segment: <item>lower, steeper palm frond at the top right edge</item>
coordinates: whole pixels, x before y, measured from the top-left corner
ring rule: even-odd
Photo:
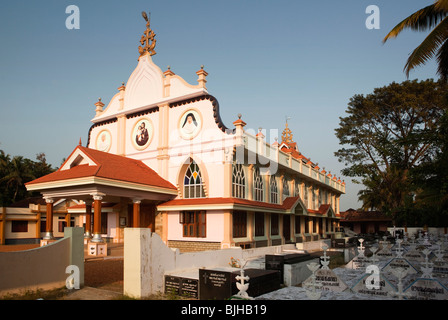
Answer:
[[[425,64],[426,61],[434,57],[438,49],[448,39],[448,18],[444,18],[423,42],[411,53],[406,62],[404,70],[406,76],[415,67]]]

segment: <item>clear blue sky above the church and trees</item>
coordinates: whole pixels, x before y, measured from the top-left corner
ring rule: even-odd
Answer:
[[[425,34],[382,44],[402,19],[432,0],[42,0],[0,4],[0,149],[58,167],[87,142],[98,97],[110,101],[137,65],[142,11],[151,11],[153,61],[196,84],[201,65],[224,123],[279,129],[285,117],[300,151],[340,175],[334,129],[355,94],[406,80],[403,67]],[[68,30],[66,7],[80,10]],[[369,30],[369,5],[380,29]],[[436,79],[434,62],[410,79]],[[341,210],[357,208],[347,183]]]

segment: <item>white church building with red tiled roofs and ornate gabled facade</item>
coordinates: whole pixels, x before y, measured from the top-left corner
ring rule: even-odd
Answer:
[[[189,84],[154,63],[145,19],[138,64],[107,106],[95,104],[87,145],[26,185],[46,201],[32,219],[35,237],[57,237],[60,219],[97,243],[123,242],[126,227],[151,228],[181,251],[333,237],[345,183],[299,152],[288,123],[272,144],[241,115],[227,127],[203,67]],[[55,210],[62,200],[70,204]]]

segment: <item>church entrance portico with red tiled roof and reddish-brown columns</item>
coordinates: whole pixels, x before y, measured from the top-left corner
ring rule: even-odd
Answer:
[[[96,253],[104,252],[97,244],[122,242],[125,227],[155,231],[156,205],[177,195],[176,187],[141,161],[81,146],[58,171],[28,183],[27,189],[40,191],[47,203],[44,244],[54,239],[53,203],[72,199],[79,205],[68,208],[68,214],[85,216],[86,242],[95,245]]]

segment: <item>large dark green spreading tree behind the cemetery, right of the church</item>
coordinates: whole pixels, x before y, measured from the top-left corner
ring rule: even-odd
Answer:
[[[413,170],[440,150],[433,137],[445,113],[447,88],[431,79],[394,82],[350,99],[348,116],[336,129],[343,147],[335,155],[345,163],[342,173],[366,186],[358,194],[365,209],[395,217],[413,203]]]

